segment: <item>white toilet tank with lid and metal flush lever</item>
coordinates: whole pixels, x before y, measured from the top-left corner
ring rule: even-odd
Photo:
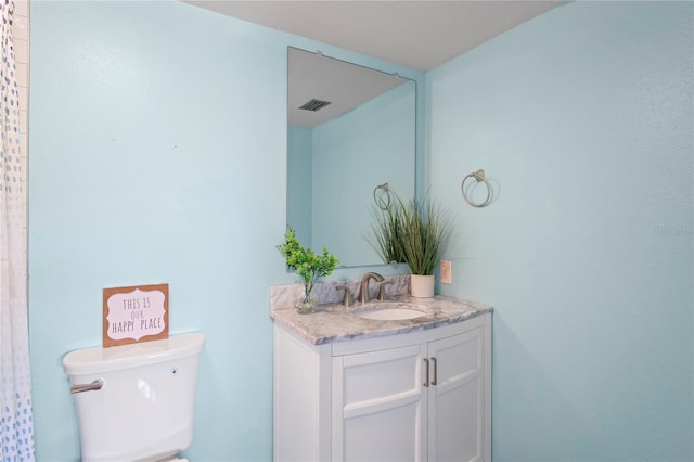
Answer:
[[[204,345],[192,332],[65,355],[82,461],[184,461]]]

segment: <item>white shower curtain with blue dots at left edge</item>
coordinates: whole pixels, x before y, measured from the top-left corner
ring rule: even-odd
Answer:
[[[12,0],[0,0],[0,462],[34,460],[26,195],[22,183],[13,12]]]

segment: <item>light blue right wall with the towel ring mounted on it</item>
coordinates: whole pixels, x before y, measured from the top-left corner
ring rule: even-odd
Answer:
[[[692,7],[570,2],[426,75],[440,291],[497,308],[497,461],[694,459]]]

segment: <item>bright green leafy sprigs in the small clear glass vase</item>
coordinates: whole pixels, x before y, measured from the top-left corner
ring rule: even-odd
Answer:
[[[286,266],[296,271],[304,281],[304,301],[310,301],[313,284],[319,278],[332,274],[339,262],[337,258],[323,247],[322,255],[317,255],[311,248],[303,247],[296,239],[294,229],[286,227],[284,243],[278,245],[278,251],[286,260]]]

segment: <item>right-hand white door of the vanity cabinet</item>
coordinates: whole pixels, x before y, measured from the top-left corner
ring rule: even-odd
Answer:
[[[429,343],[428,460],[485,460],[481,328]]]

